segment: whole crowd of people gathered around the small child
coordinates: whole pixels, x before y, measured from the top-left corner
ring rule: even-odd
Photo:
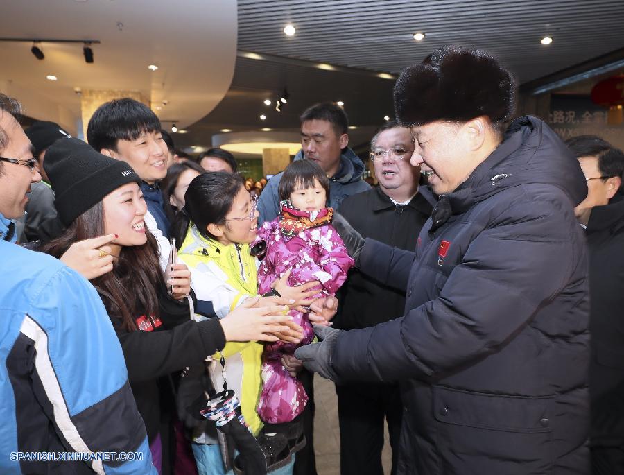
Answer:
[[[341,474],[386,423],[393,475],[622,472],[624,154],[515,92],[474,49],[406,69],[376,187],[335,103],[254,182],[130,98],[85,142],[0,93],[0,472],[315,475],[314,373]]]

